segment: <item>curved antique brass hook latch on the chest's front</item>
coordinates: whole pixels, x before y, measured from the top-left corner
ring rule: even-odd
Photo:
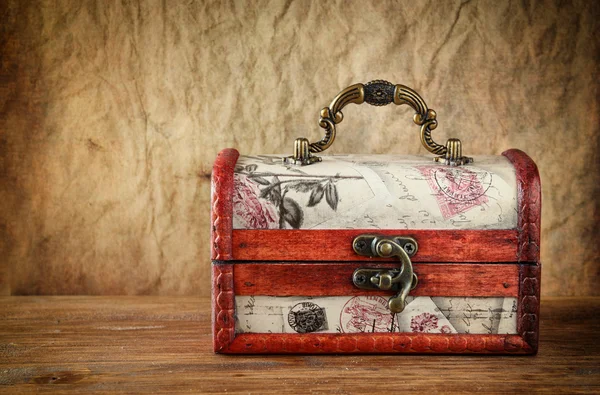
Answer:
[[[361,289],[397,291],[388,301],[392,313],[404,310],[408,293],[417,286],[417,275],[413,272],[410,257],[417,253],[417,241],[412,237],[361,235],[352,242],[358,255],[368,257],[398,257],[400,269],[360,268],[352,274],[352,282]]]

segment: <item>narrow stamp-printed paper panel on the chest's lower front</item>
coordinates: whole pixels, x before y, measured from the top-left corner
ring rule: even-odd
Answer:
[[[236,296],[239,333],[517,333],[513,297],[409,296],[392,314],[383,296]]]

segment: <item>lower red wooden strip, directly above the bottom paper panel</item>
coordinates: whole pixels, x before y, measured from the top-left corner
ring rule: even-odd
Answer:
[[[233,267],[236,295],[354,296],[391,295],[359,289],[352,273],[359,267],[398,265],[352,263],[244,263]],[[519,265],[416,264],[419,284],[412,296],[513,296],[519,290]]]

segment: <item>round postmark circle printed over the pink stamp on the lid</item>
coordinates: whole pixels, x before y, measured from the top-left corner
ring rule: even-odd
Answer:
[[[459,202],[476,201],[492,185],[492,175],[480,170],[441,168],[434,172],[434,179],[440,191],[452,200]]]

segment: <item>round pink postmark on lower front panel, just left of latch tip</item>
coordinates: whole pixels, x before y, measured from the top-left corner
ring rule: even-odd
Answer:
[[[344,333],[393,332],[394,314],[382,296],[355,296],[340,313],[340,328]]]

